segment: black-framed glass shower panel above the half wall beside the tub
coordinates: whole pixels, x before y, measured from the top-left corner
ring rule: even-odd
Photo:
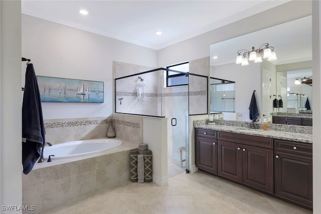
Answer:
[[[115,79],[115,112],[165,117],[165,74],[159,68]]]

